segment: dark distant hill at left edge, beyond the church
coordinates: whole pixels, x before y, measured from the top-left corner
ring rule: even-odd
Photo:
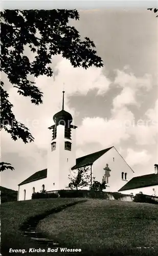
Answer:
[[[0,186],[1,203],[17,201],[17,191]]]

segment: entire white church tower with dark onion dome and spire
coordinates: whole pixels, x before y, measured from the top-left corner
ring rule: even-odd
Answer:
[[[48,149],[47,191],[65,189],[70,181],[68,175],[76,164],[76,128],[72,125],[72,115],[64,110],[64,91],[62,110],[53,116],[52,141]]]

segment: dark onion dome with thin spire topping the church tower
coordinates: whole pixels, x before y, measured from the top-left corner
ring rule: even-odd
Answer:
[[[59,111],[58,113],[56,113],[53,116],[53,120],[56,123],[56,125],[62,124],[62,125],[67,126],[67,125],[70,125],[72,123],[73,117],[69,112],[66,112],[64,110],[64,93],[65,92],[63,91],[62,93],[63,93],[63,96],[62,96],[62,110]]]

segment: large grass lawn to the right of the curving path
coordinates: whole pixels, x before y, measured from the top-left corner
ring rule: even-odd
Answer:
[[[89,199],[48,216],[37,229],[89,255],[158,255],[154,204]]]

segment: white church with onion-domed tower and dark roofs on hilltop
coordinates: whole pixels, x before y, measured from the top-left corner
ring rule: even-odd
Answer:
[[[72,115],[64,110],[64,91],[62,110],[53,116],[53,120],[54,124],[48,128],[52,133],[52,141],[48,149],[47,168],[35,172],[18,184],[18,201],[30,200],[35,192],[68,189],[69,175],[83,167],[88,169],[92,179],[95,177],[96,181],[106,181],[106,191],[130,194],[134,191],[132,189],[139,189],[138,186],[133,186],[133,179],[136,181],[135,184],[138,180],[134,178],[132,168],[115,146],[76,159],[77,126],[73,125]],[[140,180],[141,178],[139,182]],[[157,174],[154,174],[150,178],[149,186],[157,188],[156,180],[158,181]]]

